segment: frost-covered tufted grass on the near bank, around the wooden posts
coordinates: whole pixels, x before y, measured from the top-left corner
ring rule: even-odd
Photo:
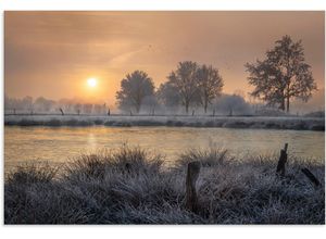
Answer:
[[[187,163],[200,161],[200,210],[185,209]],[[7,175],[5,224],[324,224],[324,165],[289,159],[230,159],[191,150],[173,167],[139,148],[82,155],[64,169],[25,165]],[[316,188],[301,173],[310,168]],[[55,174],[57,173],[57,174]]]

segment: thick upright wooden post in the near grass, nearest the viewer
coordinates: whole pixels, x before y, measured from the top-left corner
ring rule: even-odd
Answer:
[[[200,172],[200,163],[198,161],[188,163],[186,178],[186,207],[187,210],[198,213],[198,197],[196,192],[196,181]]]

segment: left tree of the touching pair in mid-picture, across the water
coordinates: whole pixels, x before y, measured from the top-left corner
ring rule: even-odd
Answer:
[[[198,64],[191,61],[179,62],[177,70],[167,76],[167,84],[177,89],[180,102],[189,111],[189,105],[196,103],[198,99],[197,81]]]

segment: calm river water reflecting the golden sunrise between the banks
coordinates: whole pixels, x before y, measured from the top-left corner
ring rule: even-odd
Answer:
[[[7,169],[26,161],[63,163],[80,153],[116,149],[124,143],[162,153],[173,162],[191,148],[228,149],[236,158],[278,153],[285,142],[289,153],[324,161],[324,131],[191,127],[4,127]]]

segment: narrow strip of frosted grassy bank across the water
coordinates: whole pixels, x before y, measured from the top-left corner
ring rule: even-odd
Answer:
[[[5,125],[17,126],[184,126],[225,128],[273,128],[325,130],[323,117],[296,116],[95,116],[95,115],[5,115]]]

